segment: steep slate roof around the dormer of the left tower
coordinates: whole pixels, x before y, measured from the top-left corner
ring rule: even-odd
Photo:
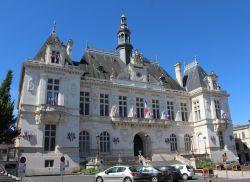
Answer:
[[[47,45],[51,46],[60,46],[63,47],[66,51],[66,45],[63,44],[63,42],[60,41],[60,38],[57,36],[55,32],[52,32],[48,39],[45,41],[41,49],[38,51],[36,56],[34,57],[34,60],[45,60],[45,54],[46,54],[46,48]],[[68,54],[65,54],[65,61],[68,62],[70,65],[73,65],[72,59],[69,57]]]

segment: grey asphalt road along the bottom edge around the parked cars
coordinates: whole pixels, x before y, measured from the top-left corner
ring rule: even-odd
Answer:
[[[192,180],[187,182],[203,182],[202,176],[195,175]],[[212,182],[249,182],[250,179],[215,179]],[[25,177],[23,182],[94,182],[94,176],[84,176],[84,175],[65,175],[63,179],[61,176],[35,176],[35,177]],[[210,182],[210,181],[208,181]]]

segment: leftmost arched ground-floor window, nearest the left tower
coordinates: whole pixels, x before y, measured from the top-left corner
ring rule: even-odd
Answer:
[[[80,156],[89,154],[89,133],[81,131],[79,134],[79,152]]]

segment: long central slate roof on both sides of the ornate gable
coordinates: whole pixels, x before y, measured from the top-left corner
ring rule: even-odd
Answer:
[[[148,71],[150,83],[161,83],[164,77],[165,88],[184,90],[175,79],[173,79],[159,64],[144,58],[143,64]],[[117,53],[88,48],[80,60],[80,68],[84,70],[85,76],[99,79],[110,79],[114,77],[121,80],[129,80],[128,65],[126,65]]]

